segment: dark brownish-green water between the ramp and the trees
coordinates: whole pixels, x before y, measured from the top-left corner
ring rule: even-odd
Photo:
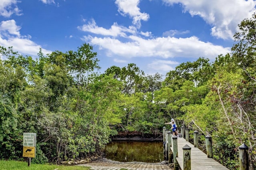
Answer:
[[[162,162],[164,160],[163,143],[147,142],[111,142],[106,145],[106,158],[119,162]]]

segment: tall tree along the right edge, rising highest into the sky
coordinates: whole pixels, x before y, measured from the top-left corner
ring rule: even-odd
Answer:
[[[232,54],[237,68],[241,68],[242,78],[236,86],[236,92],[231,97],[234,103],[234,113],[239,112],[238,118],[242,132],[247,139],[243,139],[249,146],[250,160],[256,159],[255,155],[255,83],[256,83],[256,13],[252,18],[244,19],[239,25],[239,31],[234,35],[237,44],[232,47]],[[236,110],[235,110],[236,108]],[[250,168],[255,169],[256,165],[251,164]]]

